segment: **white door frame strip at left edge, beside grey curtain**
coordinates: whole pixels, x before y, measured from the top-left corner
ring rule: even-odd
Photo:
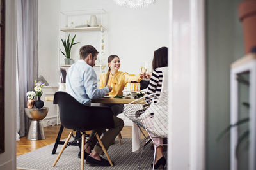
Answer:
[[[15,0],[6,3],[5,31],[5,152],[0,154],[0,169],[16,169],[16,92],[15,92]]]

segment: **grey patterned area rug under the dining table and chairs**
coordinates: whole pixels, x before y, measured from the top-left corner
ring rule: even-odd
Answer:
[[[143,141],[141,140],[141,145]],[[51,155],[54,143],[33,152],[25,153],[17,157],[17,169],[81,169],[81,159],[77,157],[78,146],[68,146],[62,153],[55,167],[52,167],[54,160],[63,145],[59,145],[55,155]],[[142,147],[141,147],[142,148]],[[116,138],[115,144],[108,149],[110,159],[115,162],[113,167],[93,167],[84,161],[84,169],[138,169],[140,153],[132,152],[132,140],[123,138],[122,145],[119,145]],[[150,164],[153,161],[154,150],[147,145],[141,159],[141,169],[152,169]],[[106,156],[104,156],[106,159]]]

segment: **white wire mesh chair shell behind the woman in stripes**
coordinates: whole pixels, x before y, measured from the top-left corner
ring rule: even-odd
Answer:
[[[168,134],[168,92],[157,92],[150,96],[141,97],[127,104],[123,113],[148,132],[166,138]]]

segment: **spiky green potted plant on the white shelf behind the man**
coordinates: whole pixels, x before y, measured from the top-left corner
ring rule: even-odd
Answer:
[[[66,57],[64,60],[65,60],[65,64],[70,64],[70,52],[71,52],[71,48],[73,45],[76,45],[78,44],[79,42],[77,43],[74,43],[74,39],[76,38],[76,35],[72,38],[72,41],[70,42],[70,34],[68,34],[68,38],[67,39],[62,39],[61,38],[61,41],[63,43],[63,46],[65,48],[65,53],[63,51],[61,51],[61,53]]]

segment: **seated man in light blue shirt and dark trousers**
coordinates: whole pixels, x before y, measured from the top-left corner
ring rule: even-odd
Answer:
[[[97,76],[93,69],[95,60],[97,60],[98,51],[92,45],[84,45],[80,48],[80,60],[73,64],[67,72],[66,92],[72,95],[77,101],[87,106],[90,106],[91,99],[104,97],[108,92],[111,92],[112,87],[107,85],[102,89],[97,88]],[[104,114],[104,113],[102,113]],[[121,118],[113,116],[114,127],[109,129],[102,137],[102,143],[108,150],[109,146],[124,127],[124,121]],[[97,143],[94,133],[99,136],[105,129],[95,129],[90,134],[90,140],[86,142],[84,151],[84,159],[87,164],[93,166],[110,166],[108,160],[100,157],[104,152]],[[79,136],[77,136],[79,138]],[[92,151],[93,149],[93,151]],[[78,154],[81,158],[81,148]]]

